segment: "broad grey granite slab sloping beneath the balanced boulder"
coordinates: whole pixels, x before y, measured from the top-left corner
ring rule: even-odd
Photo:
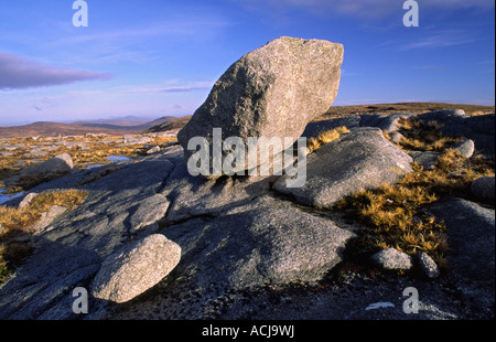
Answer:
[[[123,254],[115,250],[136,250],[133,239],[159,229],[182,249],[173,270],[180,275],[174,287],[191,291],[215,285],[216,296],[233,289],[317,281],[341,263],[354,236],[330,220],[268,195],[270,177],[233,182],[188,175],[181,147],[116,165],[117,171],[80,186],[89,193],[82,205],[35,235],[35,254],[1,290],[1,318],[75,318],[64,310],[71,296],[63,293],[77,286],[91,288],[97,274],[99,279],[106,275],[101,284],[108,284],[105,296],[90,300],[91,317],[99,317],[110,301],[132,298],[111,295],[118,290],[109,289],[117,284],[111,280],[115,270],[109,269],[125,264],[117,260],[123,257],[116,257]],[[87,173],[97,171],[74,173],[33,192],[78,188]],[[187,201],[190,194],[194,195]],[[151,269],[147,266],[142,271]],[[122,277],[117,288],[128,288],[122,293],[136,296],[138,291],[126,285],[130,279]],[[29,293],[23,292],[26,284],[31,284]],[[19,307],[25,301],[31,304]]]

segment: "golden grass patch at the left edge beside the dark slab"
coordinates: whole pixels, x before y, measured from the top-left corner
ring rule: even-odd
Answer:
[[[53,205],[71,211],[82,204],[87,195],[82,190],[63,190],[39,194],[22,210],[0,206],[0,284],[33,252],[25,239],[19,238],[31,234],[32,226],[41,215]]]

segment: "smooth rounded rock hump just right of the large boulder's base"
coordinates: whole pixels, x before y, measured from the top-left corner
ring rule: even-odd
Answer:
[[[411,172],[412,159],[386,140],[378,128],[359,128],[308,157],[306,182],[288,188],[281,177],[274,190],[304,205],[330,207],[363,189],[396,183]]]

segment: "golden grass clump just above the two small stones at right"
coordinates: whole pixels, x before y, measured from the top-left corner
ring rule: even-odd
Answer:
[[[420,168],[414,171],[422,172]],[[436,261],[443,261],[446,252],[444,225],[422,209],[439,199],[416,182],[385,184],[376,190],[364,190],[337,204],[369,227],[368,241],[373,247],[393,247],[408,254],[425,252]],[[370,246],[367,246],[370,247]]]

